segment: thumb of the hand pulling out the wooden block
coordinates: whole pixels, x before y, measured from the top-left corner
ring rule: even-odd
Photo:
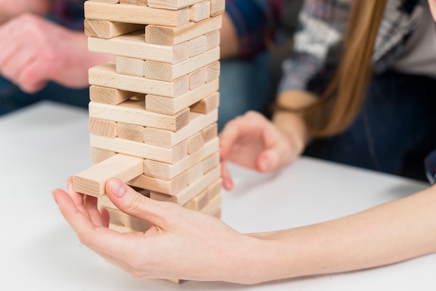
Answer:
[[[144,221],[165,228],[163,203],[150,199],[117,178],[110,178],[105,185],[107,196],[119,210]]]

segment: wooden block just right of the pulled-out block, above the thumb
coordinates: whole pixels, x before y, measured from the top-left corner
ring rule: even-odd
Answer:
[[[188,182],[189,175],[188,172],[185,172],[171,180],[162,180],[146,175],[139,175],[137,178],[130,180],[128,184],[150,191],[157,191],[162,194],[173,195],[185,189],[188,186]]]

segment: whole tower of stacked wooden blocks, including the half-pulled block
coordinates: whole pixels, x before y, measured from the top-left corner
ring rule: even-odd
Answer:
[[[145,231],[105,196],[117,177],[155,200],[220,217],[219,29],[225,0],[88,0],[91,52],[116,61],[89,70],[93,166],[75,191],[98,197],[110,227]]]

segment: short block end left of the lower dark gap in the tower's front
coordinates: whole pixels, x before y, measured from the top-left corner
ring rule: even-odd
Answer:
[[[91,101],[105,104],[120,104],[129,100],[130,98],[138,95],[138,93],[122,91],[114,88],[102,87],[102,86],[90,86],[89,97]],[[145,100],[145,95],[143,95]]]

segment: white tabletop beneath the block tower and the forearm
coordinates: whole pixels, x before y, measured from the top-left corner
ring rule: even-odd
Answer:
[[[42,102],[0,118],[0,290],[435,290],[436,255],[361,272],[258,285],[130,278],[81,245],[51,191],[91,166],[88,113]],[[301,158],[269,175],[231,167],[222,219],[241,232],[334,219],[426,183]]]

